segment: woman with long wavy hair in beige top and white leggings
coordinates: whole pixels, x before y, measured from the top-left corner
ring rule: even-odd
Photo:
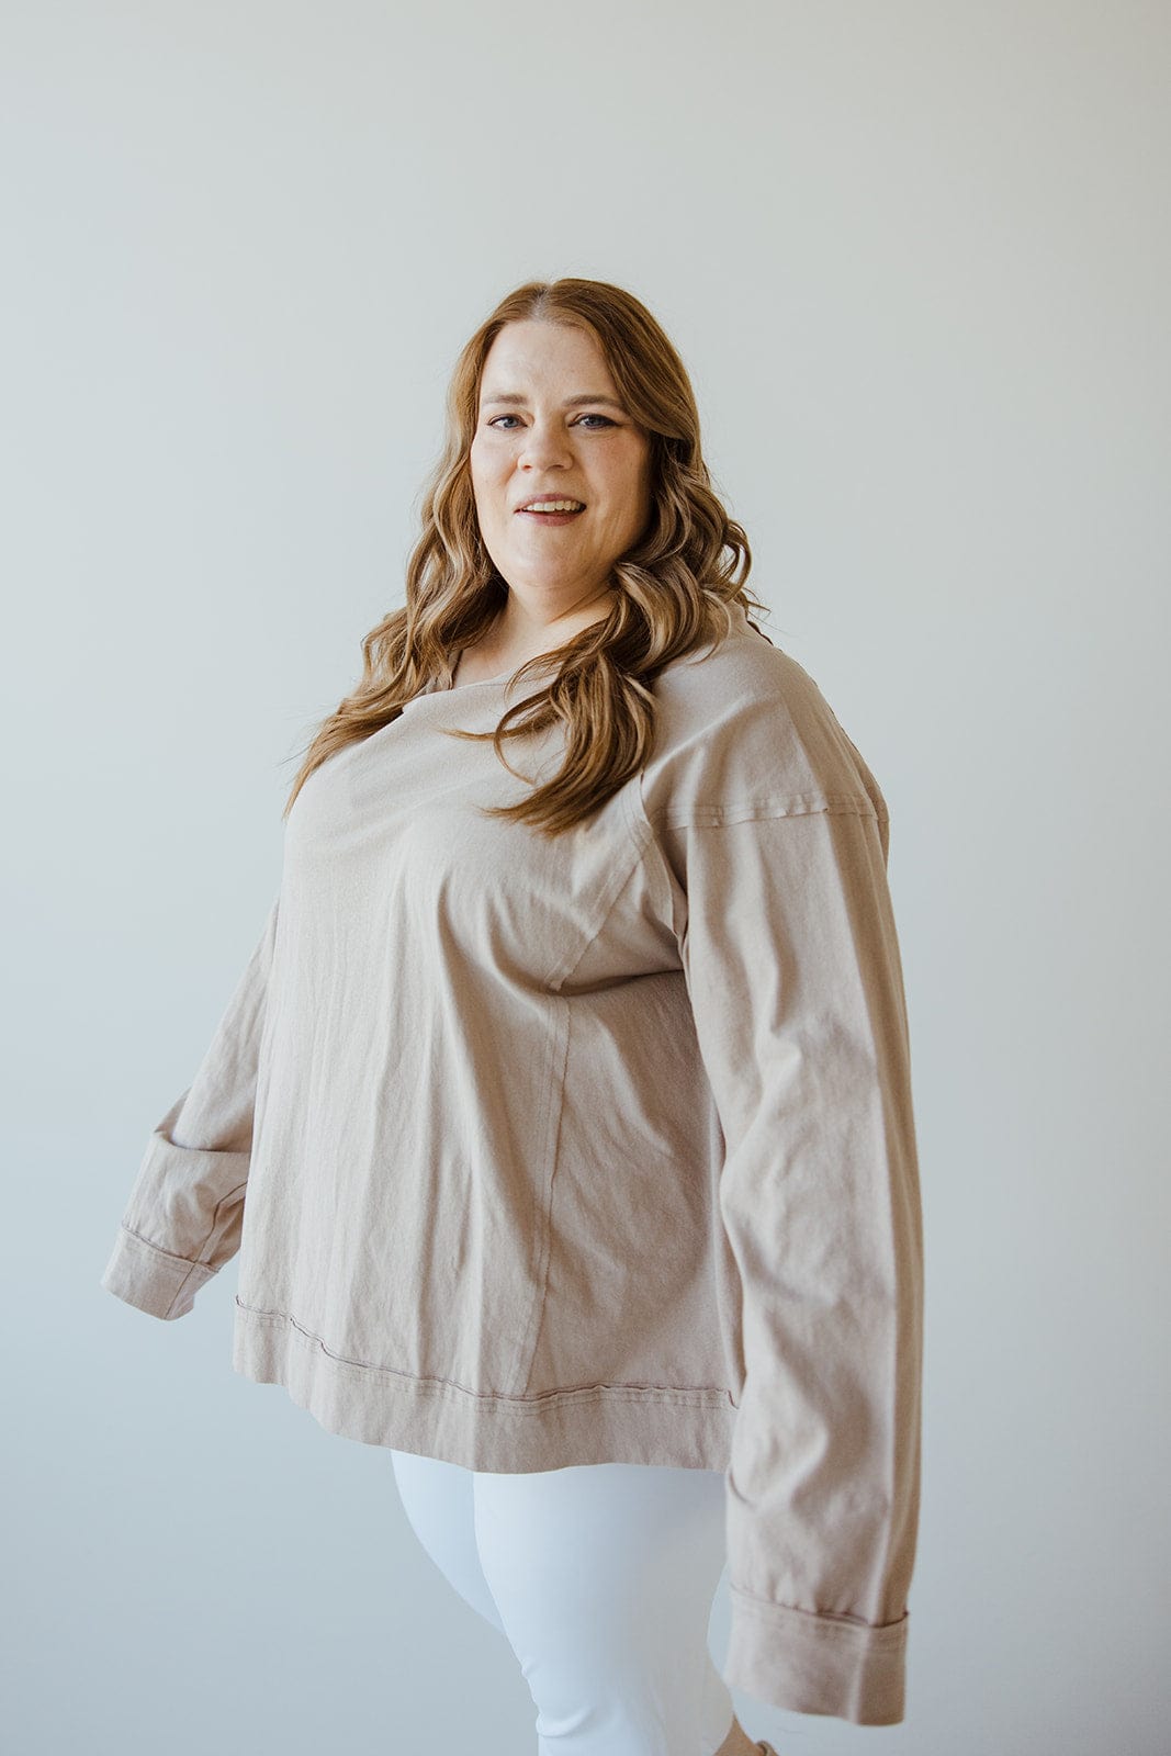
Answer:
[[[621,288],[467,342],[406,608],[104,1285],[390,1450],[541,1756],[904,1716],[922,1219],[878,783]],[[248,1199],[246,1199],[248,1198]],[[723,1677],[708,1617],[725,1561]]]

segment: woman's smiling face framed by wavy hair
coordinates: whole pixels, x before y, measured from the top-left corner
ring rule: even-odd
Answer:
[[[542,620],[609,590],[614,560],[650,520],[650,437],[581,328],[504,325],[485,360],[469,464],[488,555]],[[534,497],[581,500],[585,511],[518,511]]]

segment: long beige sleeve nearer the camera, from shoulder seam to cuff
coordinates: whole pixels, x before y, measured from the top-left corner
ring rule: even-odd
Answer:
[[[725,1679],[774,1707],[894,1724],[923,1259],[887,808],[867,785],[697,817],[662,836],[686,890],[681,955],[743,1289]]]

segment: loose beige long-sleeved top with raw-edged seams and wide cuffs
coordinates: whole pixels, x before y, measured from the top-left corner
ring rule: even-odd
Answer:
[[[423,690],[311,774],[102,1285],[181,1317],[239,1250],[235,1370],[363,1443],[725,1470],[725,1680],[894,1724],[923,1254],[888,817],[732,620],[560,839],[481,817],[525,781],[442,736],[541,678]]]

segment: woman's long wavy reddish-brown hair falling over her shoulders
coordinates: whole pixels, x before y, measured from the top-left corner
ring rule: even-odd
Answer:
[[[516,681],[530,667],[555,666],[548,687],[507,708],[490,732],[449,729],[451,738],[492,739],[497,757],[516,773],[504,755],[506,739],[558,720],[565,727],[565,757],[551,780],[514,804],[481,810],[528,822],[546,836],[592,817],[651,755],[655,678],[664,666],[723,639],[729,604],[767,615],[744,590],[748,537],[711,485],[695,395],[662,327],[632,293],[607,281],[528,281],[500,300],[456,360],[444,450],[425,483],[423,532],[407,562],[406,606],[392,609],[362,641],[362,680],[313,736],[283,818],[305,780],[337,750],[388,725],[425,687],[449,688],[460,648],[486,634],[507,601],[507,583],[481,539],[469,451],[488,349],[506,323],[527,318],[578,325],[600,344],[620,400],[650,435],[651,516],[634,548],[613,564],[609,613],[555,655],[542,653],[513,673]]]

